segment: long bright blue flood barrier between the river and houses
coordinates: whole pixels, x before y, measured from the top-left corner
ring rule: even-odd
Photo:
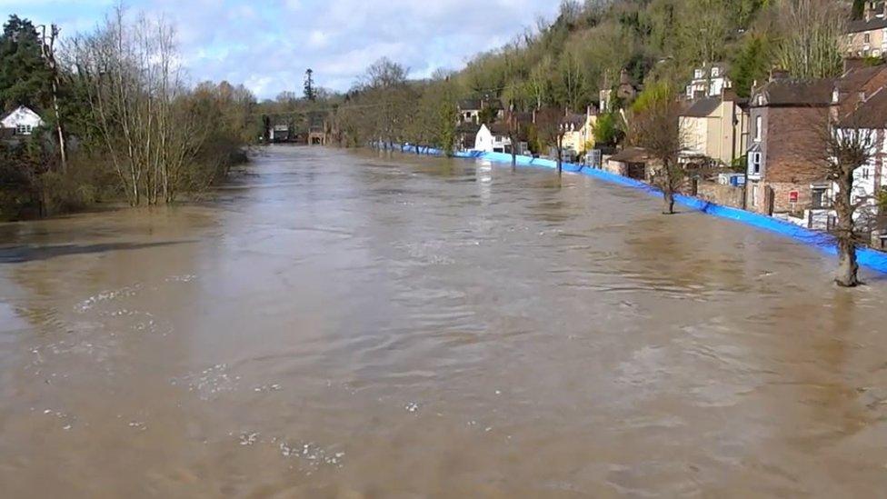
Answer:
[[[420,154],[443,155],[443,151],[439,149],[434,149],[433,147],[410,145],[407,147],[406,150],[415,152],[417,147]],[[483,151],[473,150],[456,152],[454,153],[454,157],[464,159],[480,159],[493,163],[507,163],[509,165],[512,162],[512,155],[507,153],[484,153]],[[518,155],[516,156],[515,160],[516,164],[521,166],[557,168],[557,162],[550,159],[533,158],[530,156]],[[653,185],[649,185],[623,175],[616,175],[604,170],[599,170],[591,166],[563,163],[562,167],[564,172],[590,176],[603,180],[604,182],[609,182],[611,184],[631,187],[633,189],[637,189],[651,195],[662,195],[662,192],[656,187],[653,187]],[[794,225],[791,222],[785,222],[778,218],[773,218],[772,216],[756,214],[729,206],[716,205],[709,201],[704,201],[703,199],[699,199],[698,197],[693,197],[689,195],[674,195],[674,201],[678,205],[682,205],[694,211],[702,212],[705,215],[725,218],[727,220],[733,220],[734,222],[739,222],[740,224],[751,225],[752,227],[775,234],[785,235],[791,237],[796,241],[801,242],[804,245],[813,246],[826,254],[838,254],[838,248],[835,245],[834,238],[831,235],[822,232],[813,231],[800,225]],[[876,251],[870,248],[858,248],[856,250],[856,257],[859,261],[859,264],[878,272],[887,274],[887,253]]]

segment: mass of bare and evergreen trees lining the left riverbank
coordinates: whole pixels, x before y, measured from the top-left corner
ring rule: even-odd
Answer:
[[[172,203],[244,161],[254,95],[187,85],[172,25],[117,9],[59,46],[57,33],[12,15],[0,36],[0,105],[45,122],[27,140],[0,142],[0,217]]]

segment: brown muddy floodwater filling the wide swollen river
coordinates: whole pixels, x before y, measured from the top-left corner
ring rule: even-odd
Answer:
[[[884,497],[887,280],[577,175],[266,150],[0,225],[0,497]]]

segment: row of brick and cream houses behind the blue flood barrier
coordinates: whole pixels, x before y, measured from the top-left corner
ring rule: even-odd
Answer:
[[[829,124],[839,131],[872,131],[877,153],[855,172],[853,202],[871,208],[860,210],[861,217],[877,215],[877,197],[887,187],[887,65],[870,64],[849,58],[840,77],[817,80],[794,79],[774,70],[766,81],[755,83],[747,99],[733,91],[726,65],[695,68],[679,117],[685,145],[680,161],[713,167],[707,170],[708,178],[696,179],[701,184],[694,183],[692,194],[797,225],[831,229],[836,222],[832,200],[837,186],[827,178],[822,136],[826,129],[822,125]],[[612,103],[614,96],[623,104],[630,102],[638,90],[623,72],[618,85],[602,91],[601,107]],[[511,114],[501,105],[491,104],[490,109],[485,105],[483,101],[460,104],[460,144],[465,149],[510,153],[509,123],[535,123],[536,113]],[[584,114],[563,113],[567,160],[584,156],[586,165],[650,181],[655,165],[642,149],[591,154],[593,127],[601,112],[589,106]],[[479,124],[481,115],[494,116],[496,121]],[[514,147],[518,154],[526,154],[525,142]],[[706,191],[697,193],[699,185]],[[872,233],[872,242],[887,246],[887,229],[879,228]]]

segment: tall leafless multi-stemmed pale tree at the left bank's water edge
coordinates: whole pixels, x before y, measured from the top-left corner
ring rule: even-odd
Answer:
[[[172,202],[206,125],[182,107],[187,89],[173,27],[145,16],[129,24],[117,8],[70,52],[130,204]]]

